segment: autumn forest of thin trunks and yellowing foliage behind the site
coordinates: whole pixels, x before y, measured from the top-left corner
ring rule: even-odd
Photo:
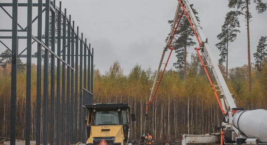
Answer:
[[[252,91],[249,94],[248,66],[229,70],[228,87],[238,107],[245,109],[267,109],[267,62],[262,62],[261,71],[252,65]],[[226,78],[225,67],[220,67]],[[126,102],[136,115],[131,122],[131,138],[138,139],[148,131],[156,141],[178,140],[181,134],[205,134],[217,132],[222,114],[207,77],[196,54],[191,55],[187,75],[179,70],[168,70],[163,77],[155,102],[149,107],[149,119],[145,119],[145,105],[155,71],[143,69],[136,64],[129,74],[123,73],[119,62],[114,62],[105,74],[94,69],[94,103]],[[11,65],[0,68],[0,136],[8,137],[10,131]],[[32,65],[32,139],[35,132],[36,66]],[[215,79],[213,78],[213,81]],[[17,139],[24,138],[26,71],[17,74]],[[50,94],[50,93],[49,93]],[[41,107],[42,108],[42,107]],[[42,111],[41,111],[42,112]]]

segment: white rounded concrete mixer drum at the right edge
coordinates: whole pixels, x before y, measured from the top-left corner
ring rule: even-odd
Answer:
[[[267,143],[267,110],[239,111],[234,115],[234,127],[259,143]]]

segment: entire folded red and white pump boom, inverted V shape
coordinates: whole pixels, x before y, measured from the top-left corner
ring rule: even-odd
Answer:
[[[171,43],[172,43],[172,40],[174,38],[174,35],[176,33],[176,30],[179,26],[179,23],[181,21],[181,18],[183,16],[183,14],[186,15],[186,17],[188,18],[188,21],[197,37],[197,40],[198,40],[198,43],[200,45],[200,48],[196,49],[197,50],[197,53],[200,57],[200,60],[201,60],[201,63],[203,65],[203,68],[205,70],[205,72],[207,73],[207,76],[208,76],[208,79],[210,81],[210,84],[211,84],[211,87],[213,88],[213,91],[217,97],[217,101],[220,105],[220,108],[221,108],[221,111],[223,114],[225,114],[227,112],[227,110],[231,110],[230,112],[228,112],[228,117],[232,117],[232,109],[233,108],[236,108],[236,105],[235,105],[235,102],[234,102],[234,98],[232,97],[227,85],[226,85],[226,82],[219,70],[219,67],[218,67],[218,64],[216,61],[214,61],[214,58],[212,56],[212,52],[211,52],[211,49],[209,47],[209,44],[205,41],[206,40],[206,37],[204,36],[203,32],[202,32],[202,29],[200,27],[200,24],[195,16],[195,14],[193,13],[190,5],[188,4],[188,1],[187,0],[178,0],[179,1],[179,4],[177,6],[177,9],[176,9],[176,13],[175,13],[175,16],[174,16],[174,20],[173,20],[173,24],[172,24],[172,28],[171,28],[171,31],[170,31],[170,35],[167,39],[167,44],[166,44],[166,47],[164,48],[163,50],[163,53],[162,53],[162,56],[161,56],[161,59],[160,59],[160,62],[159,62],[159,66],[158,66],[158,70],[156,72],[156,75],[155,75],[155,79],[154,79],[154,83],[153,83],[153,86],[151,88],[151,93],[150,93],[150,98],[149,98],[149,102],[147,102],[147,106],[146,106],[146,114],[148,113],[148,105],[149,103],[153,102],[155,96],[156,96],[156,93],[157,93],[157,90],[158,90],[158,87],[160,85],[160,82],[161,82],[161,79],[162,79],[162,76],[165,72],[165,68],[167,66],[167,63],[168,63],[168,60],[169,60],[169,57],[171,55],[171,52],[173,50],[172,47],[170,47]],[[182,10],[182,11],[181,11]],[[160,79],[158,80],[158,76],[159,76],[159,73],[160,73],[160,70],[161,70],[161,65],[162,65],[162,62],[163,62],[163,59],[164,59],[164,56],[165,56],[165,52],[167,51],[167,49],[170,49],[170,54],[168,56],[168,59],[167,59],[167,62],[165,63],[165,68],[160,76]],[[205,65],[204,62],[202,61],[202,58],[199,54],[199,50],[201,49],[201,52],[203,53],[204,57],[206,58],[206,61],[207,61],[207,64]],[[217,85],[213,85],[212,81],[210,80],[210,77],[209,77],[209,74],[206,70],[206,67],[208,67],[214,74],[215,78],[216,78],[216,81],[217,81]],[[217,89],[216,89],[217,87]],[[220,99],[219,97],[217,96],[217,91],[220,91],[221,92],[221,95],[220,95]]]

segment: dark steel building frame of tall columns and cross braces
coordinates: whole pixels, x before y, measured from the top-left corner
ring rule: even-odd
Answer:
[[[5,7],[12,7],[12,15],[6,11]],[[17,22],[18,7],[27,7],[26,28],[23,28]],[[38,9],[38,14],[35,18],[32,17],[33,7],[37,7]],[[12,3],[0,3],[0,8],[12,19],[12,29],[0,29],[0,32],[12,32],[12,36],[0,36],[0,43],[11,51],[12,54],[0,55],[0,57],[12,58],[10,102],[11,145],[15,145],[16,140],[17,58],[27,58],[26,145],[30,145],[31,139],[32,58],[37,58],[36,145],[40,145],[41,143],[43,145],[68,145],[69,143],[74,144],[78,141],[84,142],[86,140],[86,131],[83,119],[86,113],[83,106],[93,103],[94,48],[91,49],[90,43],[87,45],[87,40],[83,39],[83,33],[81,33],[81,37],[79,36],[79,27],[75,31],[74,21],[71,21],[71,15],[67,17],[67,9],[62,12],[61,1],[59,7],[57,7],[55,0],[45,0],[45,2],[38,0],[38,3],[33,3],[33,0],[28,0],[27,3],[18,3],[18,0],[13,0]],[[44,35],[42,35],[43,13],[45,13]],[[36,20],[37,36],[33,36],[34,30],[32,26]],[[18,36],[18,32],[27,32],[27,35]],[[12,48],[10,49],[1,39],[11,39]],[[18,52],[19,39],[27,40],[27,48],[20,53]],[[57,52],[55,52],[56,40]],[[33,43],[37,43],[37,55],[32,54]],[[42,49],[45,51],[44,55],[42,55]],[[23,54],[25,51],[26,54]],[[79,75],[78,72],[80,73]],[[80,82],[79,85],[78,82]],[[50,132],[50,137],[48,137],[48,132]]]

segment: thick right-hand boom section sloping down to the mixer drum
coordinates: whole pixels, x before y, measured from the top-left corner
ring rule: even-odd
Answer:
[[[212,82],[210,82],[210,83],[211,83],[211,85],[212,85],[211,87],[213,87],[213,89],[215,89],[215,87],[218,88],[218,89],[215,89],[215,93],[216,93],[216,91],[221,92],[220,104],[221,104],[223,113],[225,114],[225,112],[228,109],[231,109],[231,112],[228,113],[228,116],[232,117],[232,109],[236,108],[234,98],[233,98],[232,94],[230,93],[229,88],[226,85],[226,82],[222,76],[222,73],[219,70],[217,62],[213,58],[209,43],[206,41],[207,37],[205,37],[205,35],[202,31],[202,28],[200,27],[200,24],[199,24],[199,22],[195,16],[195,14],[193,13],[188,1],[187,0],[179,0],[179,5],[183,5],[182,8],[185,11],[184,13],[187,16],[189,23],[191,23],[190,25],[191,25],[191,27],[192,27],[192,29],[193,29],[196,37],[197,37],[197,40],[200,44],[200,48],[197,49],[197,52],[199,50],[201,50],[204,57],[206,58],[207,64],[203,65],[204,69],[205,69],[205,67],[208,67],[215,76],[215,79],[217,81],[217,85],[213,85]],[[199,55],[199,52],[198,52],[198,55]],[[202,60],[201,60],[201,63],[203,64]],[[216,94],[216,96],[217,96],[217,94]]]

